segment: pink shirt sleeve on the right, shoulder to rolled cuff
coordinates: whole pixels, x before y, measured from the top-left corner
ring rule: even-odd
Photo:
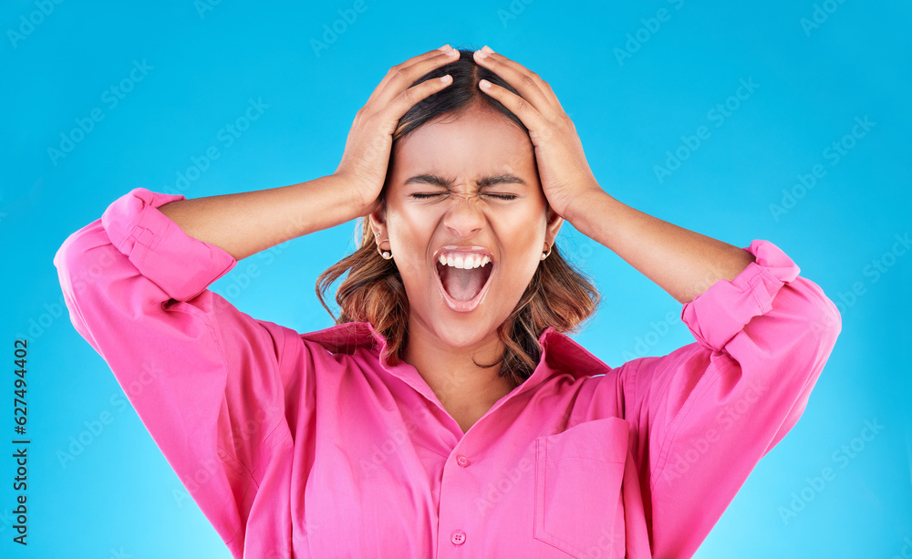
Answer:
[[[841,329],[779,247],[685,304],[696,343],[619,367],[656,557],[689,557],[756,463],[793,428]]]

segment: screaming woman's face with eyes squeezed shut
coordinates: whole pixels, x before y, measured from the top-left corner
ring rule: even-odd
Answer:
[[[409,296],[409,336],[480,347],[496,339],[563,220],[547,210],[526,132],[484,109],[443,120],[399,141],[370,221],[389,238],[380,247]]]

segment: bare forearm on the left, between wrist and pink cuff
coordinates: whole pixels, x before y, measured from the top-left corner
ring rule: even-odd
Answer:
[[[360,209],[333,175],[289,186],[178,200],[158,209],[184,233],[235,260],[356,219]]]

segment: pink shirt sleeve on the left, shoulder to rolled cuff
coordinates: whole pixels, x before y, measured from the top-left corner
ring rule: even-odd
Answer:
[[[208,285],[237,262],[137,188],[54,256],[78,333],[105,359],[152,439],[235,556],[285,425],[280,362],[294,331],[247,316]]]

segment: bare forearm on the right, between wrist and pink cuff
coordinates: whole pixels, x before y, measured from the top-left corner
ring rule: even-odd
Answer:
[[[680,303],[688,303],[720,279],[733,280],[753,256],[618,202],[598,189],[567,216],[580,233],[605,245]]]

